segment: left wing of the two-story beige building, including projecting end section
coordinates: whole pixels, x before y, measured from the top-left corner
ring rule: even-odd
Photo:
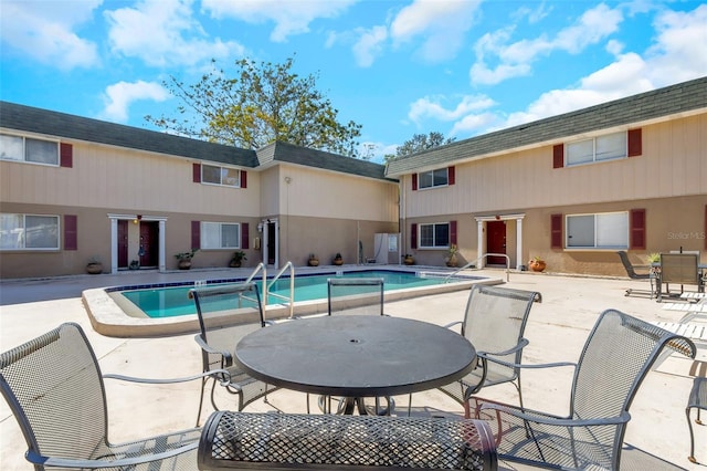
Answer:
[[[384,167],[283,143],[257,151],[0,103],[0,275],[348,263],[398,232]],[[359,241],[362,241],[359,244]]]

